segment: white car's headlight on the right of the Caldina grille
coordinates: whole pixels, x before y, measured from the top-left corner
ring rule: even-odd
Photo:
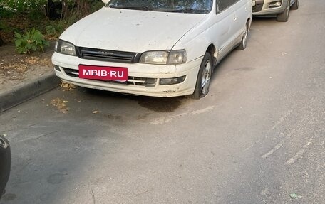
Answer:
[[[141,55],[139,63],[157,65],[177,65],[185,63],[187,54],[185,50],[149,51]]]

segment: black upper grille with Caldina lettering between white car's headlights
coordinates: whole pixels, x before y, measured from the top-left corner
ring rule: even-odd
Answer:
[[[78,57],[87,60],[98,60],[115,63],[137,63],[140,54],[116,50],[100,50],[94,48],[77,47]]]

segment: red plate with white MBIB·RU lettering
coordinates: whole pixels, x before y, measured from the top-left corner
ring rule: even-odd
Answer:
[[[128,68],[79,65],[79,78],[126,82],[128,80]]]

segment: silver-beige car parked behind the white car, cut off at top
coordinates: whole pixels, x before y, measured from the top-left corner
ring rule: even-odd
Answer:
[[[289,11],[299,8],[299,0],[253,0],[254,16],[277,16],[277,21],[287,22]]]

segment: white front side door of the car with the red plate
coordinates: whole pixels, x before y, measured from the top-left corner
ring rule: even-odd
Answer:
[[[218,57],[217,61],[229,53],[232,49],[232,41],[234,39],[234,9],[232,1],[234,0],[215,0],[216,1],[216,18],[217,23],[217,42]]]

